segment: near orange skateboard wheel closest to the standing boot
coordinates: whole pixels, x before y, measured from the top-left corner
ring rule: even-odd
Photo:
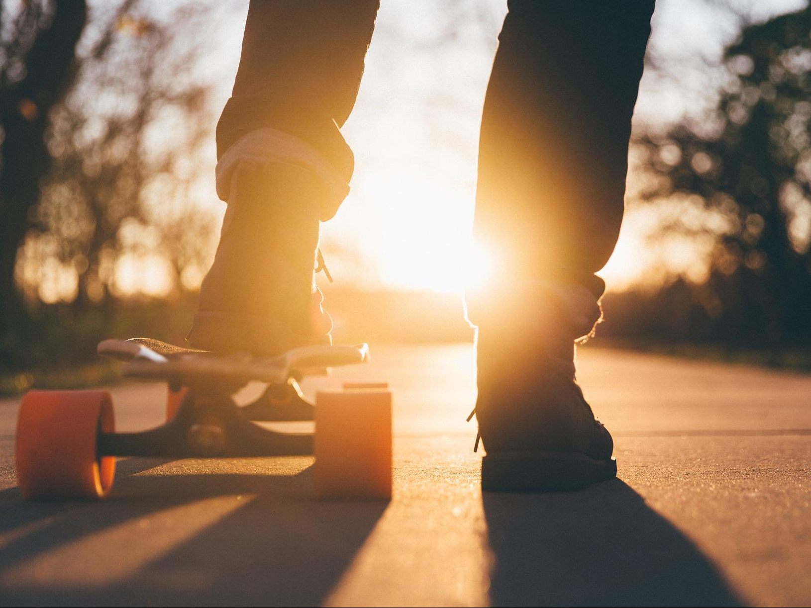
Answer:
[[[380,384],[315,398],[315,494],[392,496],[392,393]]]

